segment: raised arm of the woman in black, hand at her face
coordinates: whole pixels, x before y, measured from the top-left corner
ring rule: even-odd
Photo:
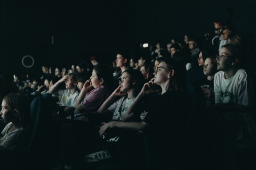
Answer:
[[[135,108],[137,108],[141,104],[141,101],[142,101],[144,95],[150,94],[153,92],[152,88],[153,88],[154,80],[155,79],[153,78],[149,82],[144,84],[144,86],[141,89],[141,92],[137,95],[134,102],[130,105],[130,107],[128,107],[127,111],[123,115],[124,120],[128,121],[128,120],[131,120],[132,118],[134,118]]]

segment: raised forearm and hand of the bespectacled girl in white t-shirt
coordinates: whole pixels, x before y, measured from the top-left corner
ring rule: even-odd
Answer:
[[[118,88],[115,89],[115,91],[108,97],[108,99],[106,101],[104,101],[104,103],[101,105],[101,107],[99,108],[99,110],[97,111],[98,113],[109,113],[110,111],[108,110],[109,105],[112,103],[112,101],[114,101],[114,99],[116,98],[116,96],[118,95],[125,95],[125,93],[123,93],[121,91],[121,86],[118,86]]]

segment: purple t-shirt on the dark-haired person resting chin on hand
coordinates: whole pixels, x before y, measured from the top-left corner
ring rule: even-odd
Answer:
[[[99,86],[90,91],[87,96],[85,96],[84,101],[81,102],[82,106],[85,108],[86,113],[94,113],[101,107],[101,104],[108,98],[111,91],[104,87]]]

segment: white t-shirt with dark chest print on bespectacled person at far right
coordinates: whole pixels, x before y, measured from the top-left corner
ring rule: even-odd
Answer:
[[[224,78],[224,72],[219,71],[214,76],[215,103],[238,104],[252,106],[250,95],[253,94],[247,81],[247,74],[238,69],[229,79]]]

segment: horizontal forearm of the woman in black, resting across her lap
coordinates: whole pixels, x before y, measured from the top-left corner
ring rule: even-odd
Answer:
[[[127,130],[133,130],[133,131],[141,131],[145,128],[147,128],[149,125],[145,122],[122,122],[122,121],[111,121],[108,123],[102,123],[103,126],[101,126],[99,130],[100,136],[110,127],[116,126],[122,129]]]

